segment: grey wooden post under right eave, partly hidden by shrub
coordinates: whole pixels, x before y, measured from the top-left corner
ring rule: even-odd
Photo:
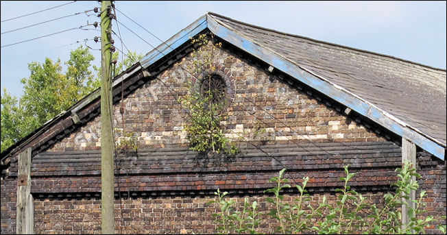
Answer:
[[[402,167],[404,166],[405,162],[411,163],[411,167],[416,169],[416,145],[411,143],[411,141],[402,138]],[[412,176],[411,180],[415,181],[416,177]],[[407,201],[408,206],[402,205],[402,227],[407,225],[411,219],[407,213],[407,209],[416,208],[415,203],[411,201],[416,199],[416,191],[411,190],[409,197],[410,199],[403,199],[404,201]]]

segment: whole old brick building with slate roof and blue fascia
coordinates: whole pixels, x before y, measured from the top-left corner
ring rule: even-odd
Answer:
[[[204,33],[221,47],[191,44]],[[186,140],[179,99],[203,82],[193,63],[208,54],[237,156],[199,154]],[[318,201],[335,199],[350,164],[352,188],[380,202],[393,190],[402,143],[415,146],[427,214],[446,215],[445,70],[208,13],[114,77],[113,100],[115,140],[132,133],[137,145],[115,158],[119,233],[215,233],[217,208],[206,202],[217,188],[262,201],[283,168],[297,182],[309,176]],[[34,233],[101,232],[99,106],[96,90],[1,153],[1,234],[16,232],[18,197],[28,198],[19,187],[32,196]]]

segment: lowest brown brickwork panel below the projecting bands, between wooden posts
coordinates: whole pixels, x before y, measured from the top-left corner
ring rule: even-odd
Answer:
[[[259,211],[267,214],[272,209],[267,196],[254,195]],[[333,203],[336,195],[326,195]],[[312,206],[322,201],[322,195],[312,195]],[[215,197],[138,197],[115,200],[115,232],[119,234],[215,234],[217,223],[212,214],[219,212],[217,204],[208,202]],[[244,197],[228,197],[243,205]],[[291,203],[295,195],[285,195]],[[365,195],[365,201],[380,203],[381,193]],[[36,234],[97,234],[101,232],[101,202],[99,199],[44,199],[34,202]],[[88,211],[88,213],[85,213]],[[263,215],[259,232],[272,232],[274,220]],[[316,220],[312,221],[316,223]]]

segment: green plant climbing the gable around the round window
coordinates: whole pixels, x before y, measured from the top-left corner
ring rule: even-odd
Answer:
[[[213,39],[213,38],[211,38]],[[189,84],[188,94],[182,97],[184,107],[189,110],[188,123],[185,126],[186,138],[189,140],[190,149],[199,152],[228,153],[235,154],[238,149],[226,138],[221,127],[224,116],[221,115],[226,100],[221,99],[223,94],[219,93],[214,86],[204,86],[205,82],[212,82],[213,51],[202,50],[202,45],[208,44],[208,36],[201,34],[197,38],[191,38],[191,43],[197,47],[191,55],[195,73],[201,74],[201,81]],[[216,43],[221,47],[221,43]],[[206,85],[206,84],[205,84]]]

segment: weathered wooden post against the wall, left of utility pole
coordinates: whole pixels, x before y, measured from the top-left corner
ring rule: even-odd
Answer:
[[[19,153],[17,171],[16,234],[34,234],[34,201],[31,195],[31,148]]]

